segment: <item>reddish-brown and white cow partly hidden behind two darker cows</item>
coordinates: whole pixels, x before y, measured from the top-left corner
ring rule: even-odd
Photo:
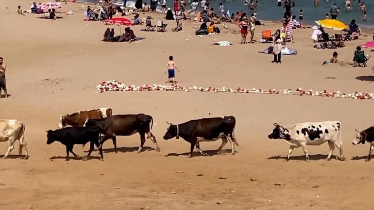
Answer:
[[[83,127],[83,125],[85,125],[85,120],[87,119],[87,117],[90,119],[102,119],[108,116],[112,116],[111,108],[80,111],[72,114],[67,114],[65,116],[61,115],[58,129],[63,129],[69,125],[73,127]]]

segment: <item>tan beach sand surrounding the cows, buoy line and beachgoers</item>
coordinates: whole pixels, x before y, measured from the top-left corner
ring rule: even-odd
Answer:
[[[0,118],[26,124],[30,159],[23,161],[13,150],[0,160],[1,210],[364,210],[374,208],[373,162],[365,162],[369,146],[351,144],[354,129],[373,125],[373,101],[327,97],[281,95],[212,94],[185,92],[113,92],[99,94],[96,85],[117,79],[126,84],[163,84],[169,55],[173,55],[183,86],[242,88],[292,88],[374,92],[371,66],[324,65],[334,50],[312,48],[310,29],[298,29],[297,56],[283,56],[282,65],[272,64],[272,55],[257,53],[269,44],[240,45],[236,25],[222,26],[221,34],[198,37],[199,24],[184,21],[183,32],[142,32],[134,43],[100,42],[107,26],[84,22],[81,4],[63,4],[56,22],[34,15],[17,16],[16,7],[29,8],[31,1],[0,0],[1,56],[8,65],[8,93],[0,100]],[[8,8],[6,8],[8,7]],[[80,10],[80,11],[78,11]],[[144,16],[144,15],[142,15]],[[154,15],[162,18],[162,15]],[[275,31],[279,24],[256,28]],[[118,33],[118,26],[113,26]],[[122,27],[123,30],[123,27]],[[233,34],[235,32],[236,34]],[[227,40],[230,47],[211,44]],[[370,37],[347,42],[338,48],[339,60],[350,62],[354,48]],[[373,52],[366,50],[373,56]],[[333,79],[326,79],[333,78]],[[49,79],[49,80],[46,80]],[[150,141],[136,154],[139,136],[119,137],[119,153],[105,145],[104,162],[70,160],[59,143],[46,145],[47,129],[56,129],[61,114],[111,107],[114,114],[147,113],[154,118],[153,133],[161,147]],[[167,125],[190,119],[233,115],[237,118],[237,153],[230,146],[221,155],[221,145],[203,143],[212,157],[187,159],[189,145],[182,139],[164,141]],[[305,162],[301,148],[285,162],[289,146],[269,140],[272,124],[339,120],[347,161],[324,161],[328,145],[309,146],[311,161]],[[7,149],[2,143],[1,154]],[[17,146],[16,146],[17,148]],[[85,150],[77,145],[81,156]],[[334,154],[338,154],[335,150]],[[94,156],[99,157],[97,152]],[[356,157],[356,158],[353,158]],[[197,176],[202,175],[202,176]],[[173,194],[172,192],[175,192]]]

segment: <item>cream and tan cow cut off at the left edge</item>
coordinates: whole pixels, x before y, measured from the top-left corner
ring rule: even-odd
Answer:
[[[9,141],[8,151],[4,155],[4,159],[9,156],[9,153],[14,148],[15,141],[19,141],[19,155],[22,155],[22,148],[25,150],[23,159],[29,157],[27,152],[27,144],[24,140],[25,124],[18,120],[0,120],[0,142]]]

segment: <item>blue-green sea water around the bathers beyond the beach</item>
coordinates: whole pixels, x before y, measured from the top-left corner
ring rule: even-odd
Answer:
[[[89,2],[89,3],[100,3],[101,0],[78,0],[80,2]],[[123,0],[112,0],[114,3],[123,4]],[[150,4],[151,0],[143,0]],[[190,0],[189,0],[190,1]],[[320,0],[319,5],[314,5],[314,0],[293,0],[295,2],[295,7],[292,8],[292,15],[296,16],[298,20],[298,13],[302,9],[304,12],[304,23],[315,24],[316,20],[324,19],[326,13],[330,13],[330,8],[334,3],[337,3],[340,7],[341,15],[338,16],[338,19],[346,24],[349,24],[352,19],[356,19],[356,23],[361,28],[374,28],[374,0],[363,0],[366,5],[366,15],[367,20],[362,21],[362,12],[359,12],[359,8],[351,0],[352,9],[351,12],[346,12],[345,9],[345,0]],[[358,1],[358,0],[356,0]],[[173,0],[167,0],[168,7],[173,10]],[[200,2],[200,1],[199,1]],[[247,16],[250,16],[252,13],[257,14],[257,19],[259,20],[274,20],[279,21],[283,18],[285,13],[284,1],[282,6],[277,6],[276,0],[258,0],[261,6],[257,7],[255,11],[249,10],[247,5],[244,5],[245,0],[210,0],[210,7],[215,9],[215,12],[218,13],[218,7],[220,3],[223,3],[225,11],[229,10],[231,13],[236,13],[237,11],[243,11],[247,13]],[[161,7],[159,4],[158,7]],[[190,7],[190,2],[187,3],[187,9]],[[199,8],[201,11],[202,8]]]

